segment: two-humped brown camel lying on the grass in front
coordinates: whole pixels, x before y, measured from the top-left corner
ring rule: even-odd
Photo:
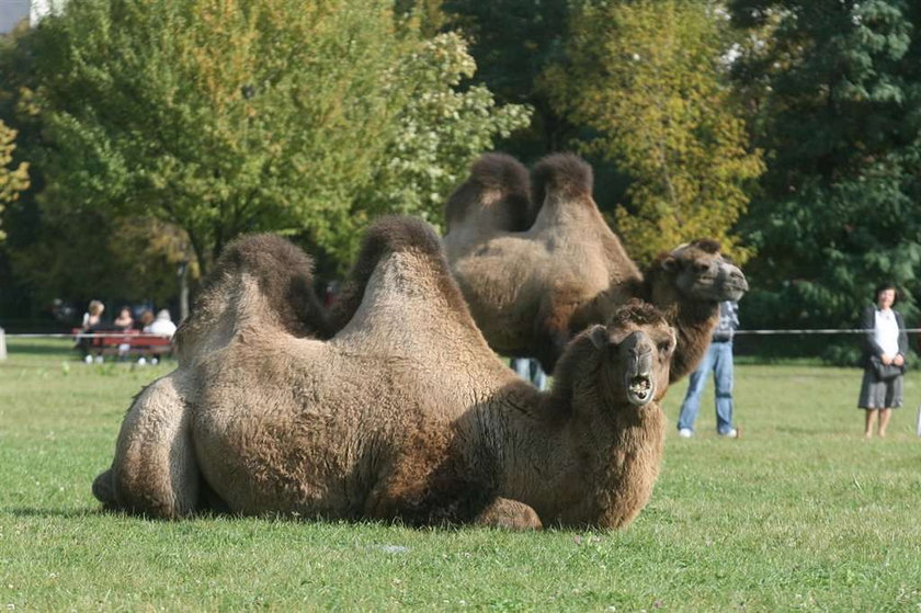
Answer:
[[[488,348],[427,224],[368,231],[328,341],[277,313],[305,272],[277,274],[289,249],[228,247],[177,333],[179,367],[135,399],[93,484],[106,508],[527,529],[617,527],[646,504],[675,343],[655,308],[577,336],[539,393]]]

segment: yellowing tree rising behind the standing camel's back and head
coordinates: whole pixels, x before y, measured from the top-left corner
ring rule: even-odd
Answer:
[[[740,261],[732,227],[763,170],[727,86],[725,15],[707,0],[585,1],[573,7],[567,60],[544,81],[571,122],[594,130],[583,151],[626,172],[616,227],[648,261],[697,237]]]

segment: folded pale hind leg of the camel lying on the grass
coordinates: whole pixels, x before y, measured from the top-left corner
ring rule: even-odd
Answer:
[[[106,508],[163,519],[195,511],[201,476],[191,416],[175,383],[172,376],[156,381],[128,409],[112,468],[93,484]]]

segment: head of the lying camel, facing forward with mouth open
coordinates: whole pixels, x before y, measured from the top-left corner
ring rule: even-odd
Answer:
[[[626,400],[641,408],[664,396],[675,332],[653,306],[630,302],[606,326],[588,330],[594,348],[603,352],[602,385],[619,406]]]

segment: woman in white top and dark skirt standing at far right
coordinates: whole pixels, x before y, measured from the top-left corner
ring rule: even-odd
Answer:
[[[908,334],[901,314],[892,309],[896,286],[884,283],[876,288],[876,305],[864,309],[861,328],[864,339],[864,376],[857,408],[864,409],[864,436],[873,438],[877,422],[880,438],[886,436],[892,409],[902,405],[902,378],[908,353]]]

